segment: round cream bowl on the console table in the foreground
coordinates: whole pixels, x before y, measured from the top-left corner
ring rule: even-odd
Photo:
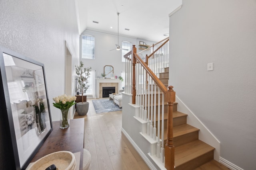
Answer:
[[[45,170],[54,164],[58,170],[76,170],[76,158],[72,152],[59,151],[48,154],[32,163],[26,170]]]

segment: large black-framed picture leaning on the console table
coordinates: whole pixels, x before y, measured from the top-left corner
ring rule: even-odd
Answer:
[[[44,64],[0,46],[0,76],[8,168],[24,170],[53,130]]]

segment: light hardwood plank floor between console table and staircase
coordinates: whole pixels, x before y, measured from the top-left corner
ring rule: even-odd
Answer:
[[[121,133],[122,111],[97,113],[88,99],[84,117],[84,148],[92,156],[91,170],[150,170],[131,143]]]

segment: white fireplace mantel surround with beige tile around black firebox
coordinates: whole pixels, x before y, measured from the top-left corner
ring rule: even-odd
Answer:
[[[102,98],[102,87],[115,87],[116,93],[118,93],[120,80],[119,79],[109,79],[109,78],[96,78],[97,84],[97,96],[96,98]]]

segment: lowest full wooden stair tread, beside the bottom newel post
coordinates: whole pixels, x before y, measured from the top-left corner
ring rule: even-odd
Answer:
[[[176,167],[178,167],[214,149],[214,147],[200,140],[192,141],[179,147],[175,147],[174,164]]]

